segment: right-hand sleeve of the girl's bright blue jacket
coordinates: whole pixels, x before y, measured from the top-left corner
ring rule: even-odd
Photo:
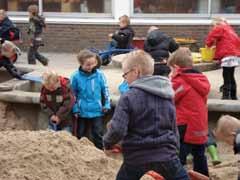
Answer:
[[[104,98],[103,108],[111,109],[109,89],[108,89],[106,77],[103,73],[101,73],[101,92],[103,95],[102,98]]]

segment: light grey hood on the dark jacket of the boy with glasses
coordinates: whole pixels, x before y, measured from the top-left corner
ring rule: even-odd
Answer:
[[[134,81],[130,88],[138,88],[150,94],[160,96],[166,99],[174,97],[171,82],[163,76],[144,76]]]

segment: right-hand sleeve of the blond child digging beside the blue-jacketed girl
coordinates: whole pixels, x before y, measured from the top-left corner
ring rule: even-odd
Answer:
[[[75,98],[72,93],[72,90],[70,88],[70,84],[67,85],[67,92],[66,97],[64,99],[63,105],[59,108],[56,115],[59,117],[59,119],[65,120],[69,113],[72,111],[72,107],[75,104]]]

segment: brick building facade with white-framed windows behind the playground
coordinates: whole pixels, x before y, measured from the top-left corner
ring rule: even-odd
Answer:
[[[28,43],[26,10],[30,4],[37,4],[46,17],[45,51],[102,49],[123,14],[131,17],[138,37],[157,25],[173,37],[194,38],[201,46],[211,19],[218,16],[226,17],[240,32],[240,0],[1,0],[0,9],[7,10],[23,32],[23,49]]]

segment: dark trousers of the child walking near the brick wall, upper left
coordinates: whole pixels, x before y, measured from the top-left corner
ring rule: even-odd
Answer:
[[[48,65],[48,59],[38,52],[40,45],[33,43],[28,50],[28,64],[36,64],[36,59],[44,66]]]

